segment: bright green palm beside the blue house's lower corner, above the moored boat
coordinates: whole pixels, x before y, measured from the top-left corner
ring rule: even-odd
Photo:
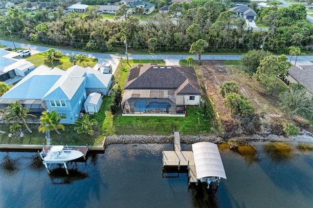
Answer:
[[[58,134],[61,134],[58,129],[65,130],[64,125],[60,124],[61,119],[65,116],[60,116],[56,110],[52,110],[51,113],[44,111],[40,117],[41,125],[38,127],[39,132],[45,133],[47,130],[55,130]]]

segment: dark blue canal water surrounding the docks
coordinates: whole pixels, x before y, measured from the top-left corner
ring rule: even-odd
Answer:
[[[217,190],[188,187],[186,173],[162,177],[168,144],[110,145],[86,162],[68,163],[68,176],[57,166],[49,175],[37,152],[0,152],[0,207],[312,208],[313,151],[254,145],[252,154],[221,151],[227,180]]]

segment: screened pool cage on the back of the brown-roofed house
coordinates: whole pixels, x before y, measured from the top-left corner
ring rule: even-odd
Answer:
[[[180,114],[185,105],[176,103],[175,90],[125,90],[123,114]]]

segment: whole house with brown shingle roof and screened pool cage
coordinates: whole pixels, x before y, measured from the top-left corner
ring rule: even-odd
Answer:
[[[185,116],[202,90],[193,66],[134,65],[122,99],[123,116]]]

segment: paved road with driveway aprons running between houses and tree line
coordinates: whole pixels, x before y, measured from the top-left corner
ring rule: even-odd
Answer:
[[[0,42],[5,45],[6,47],[12,47],[14,48],[14,45],[11,41],[3,41],[0,40]],[[39,52],[46,51],[49,49],[49,47],[45,46],[39,46],[39,45],[33,45],[33,44],[25,44],[25,43],[20,43],[20,42],[15,42],[16,47],[20,48],[29,48],[32,52],[32,54],[36,54]],[[97,58],[98,63],[96,66],[105,64],[105,63],[110,63],[112,64],[112,69],[113,72],[115,71],[119,60],[119,57],[123,57],[126,59],[125,54],[107,54],[107,53],[89,53],[89,52],[81,52],[81,51],[74,51],[74,50],[66,50],[66,49],[58,49],[65,55],[69,54],[87,54],[88,57],[90,58]],[[132,54],[129,55],[129,59],[142,59],[142,60],[147,60],[147,59],[155,59],[155,60],[164,60],[166,64],[168,65],[178,65],[179,60],[186,60],[188,56],[192,56],[195,58],[195,60],[198,60],[198,56],[193,56],[191,54]],[[290,59],[290,56],[287,56]],[[240,60],[242,58],[242,55],[202,55],[201,60]],[[292,58],[292,62],[295,61],[295,57]],[[311,61],[311,62],[310,62]],[[312,65],[313,63],[313,56],[299,56],[297,60],[297,65]]]

